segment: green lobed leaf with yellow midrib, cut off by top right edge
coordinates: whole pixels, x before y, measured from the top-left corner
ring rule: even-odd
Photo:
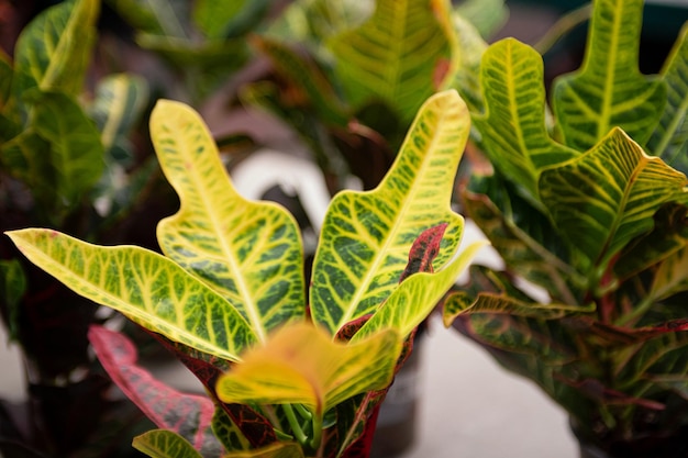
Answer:
[[[641,145],[666,104],[666,85],[637,68],[643,0],[597,0],[586,57],[553,87],[565,143],[587,150],[619,126]]]

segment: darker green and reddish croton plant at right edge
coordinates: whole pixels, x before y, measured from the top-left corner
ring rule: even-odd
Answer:
[[[593,2],[585,62],[555,80],[552,111],[535,51],[486,51],[473,119],[493,172],[463,201],[506,270],[474,267],[444,304],[447,325],[568,412],[582,456],[687,453],[688,46],[684,30],[662,72],[642,75],[642,11]]]

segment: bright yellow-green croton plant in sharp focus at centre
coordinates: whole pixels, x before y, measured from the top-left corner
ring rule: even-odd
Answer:
[[[157,227],[164,255],[49,228],[9,236],[69,288],[157,336],[206,386],[208,396],[166,388],[136,365],[124,335],[92,327],[103,367],[160,427],[134,440],[140,450],[367,456],[415,327],[478,246],[456,254],[463,217],[450,205],[468,132],[455,91],[430,98],[382,182],[332,200],[310,288],[293,217],[237,194],[202,120],[179,102],[159,101],[151,116],[181,202]]]

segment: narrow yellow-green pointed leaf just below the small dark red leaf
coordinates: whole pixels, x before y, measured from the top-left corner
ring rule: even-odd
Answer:
[[[419,272],[409,277],[356,333],[352,342],[387,328],[396,329],[402,337],[410,335],[435,309],[459,273],[468,267],[476,252],[484,246],[485,243],[469,245],[435,273]]]

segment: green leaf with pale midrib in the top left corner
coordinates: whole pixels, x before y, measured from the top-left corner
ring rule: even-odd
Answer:
[[[40,14],[21,33],[14,69],[30,76],[24,83],[77,96],[96,42],[98,0],[65,1]],[[15,97],[27,88],[16,88]]]

